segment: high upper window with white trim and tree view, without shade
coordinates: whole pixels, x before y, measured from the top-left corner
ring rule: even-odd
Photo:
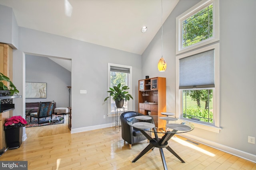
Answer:
[[[176,18],[176,54],[219,40],[219,0],[207,0]]]

